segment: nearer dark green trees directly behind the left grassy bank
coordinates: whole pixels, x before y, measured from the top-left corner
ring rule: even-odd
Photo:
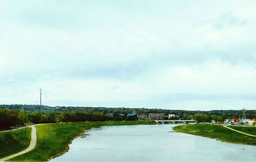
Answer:
[[[115,113],[108,116],[99,111],[83,112],[26,112],[24,110],[8,110],[0,108],[0,129],[8,129],[15,126],[25,126],[33,123],[52,123],[52,122],[84,122],[84,121],[136,121],[136,115],[129,116]]]

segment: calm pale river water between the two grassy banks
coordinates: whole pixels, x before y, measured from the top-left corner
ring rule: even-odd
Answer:
[[[172,132],[175,125],[111,126],[78,137],[51,161],[256,161],[256,147]]]

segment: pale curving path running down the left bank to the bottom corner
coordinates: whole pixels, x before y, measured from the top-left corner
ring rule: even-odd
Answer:
[[[33,150],[35,148],[35,146],[36,146],[36,128],[35,128],[35,126],[31,126],[31,128],[32,128],[32,131],[31,131],[31,141],[30,141],[29,147],[27,149],[25,149],[24,151],[20,151],[20,152],[18,152],[16,154],[12,154],[10,156],[2,158],[2,159],[0,159],[0,161],[6,161],[8,159],[15,158],[16,156],[20,156],[22,154],[25,154],[26,152],[29,152],[29,151],[31,151],[31,150]]]

